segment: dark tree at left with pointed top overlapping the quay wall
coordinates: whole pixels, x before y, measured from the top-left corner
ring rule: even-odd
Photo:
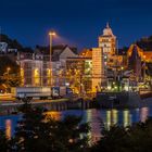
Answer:
[[[43,132],[45,115],[41,109],[33,109],[30,100],[27,98],[24,98],[23,102],[23,106],[20,107],[23,117],[16,127],[13,148],[21,152],[31,152],[35,151],[36,141],[40,139],[40,135]]]

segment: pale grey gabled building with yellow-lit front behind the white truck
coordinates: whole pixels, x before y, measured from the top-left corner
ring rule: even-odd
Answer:
[[[66,59],[76,56],[75,48],[54,46],[50,68],[49,47],[37,47],[35,52],[18,52],[22,86],[65,86],[61,72],[66,69]]]

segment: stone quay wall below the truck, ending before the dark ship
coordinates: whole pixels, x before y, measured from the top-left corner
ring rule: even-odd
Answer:
[[[65,111],[65,110],[86,110],[96,107],[96,103],[92,100],[69,100],[69,99],[58,99],[58,100],[39,100],[33,101],[31,106],[41,106],[45,111]],[[23,105],[22,101],[14,102],[1,102],[0,103],[0,115],[15,114],[18,107]]]

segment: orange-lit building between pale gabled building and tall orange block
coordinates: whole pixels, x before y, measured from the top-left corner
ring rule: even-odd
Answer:
[[[92,61],[90,58],[66,59],[66,83],[75,93],[85,96],[91,92]]]

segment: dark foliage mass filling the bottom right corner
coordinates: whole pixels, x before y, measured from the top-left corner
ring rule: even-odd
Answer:
[[[113,126],[102,134],[100,141],[91,149],[103,152],[151,152],[152,118],[124,128]]]

